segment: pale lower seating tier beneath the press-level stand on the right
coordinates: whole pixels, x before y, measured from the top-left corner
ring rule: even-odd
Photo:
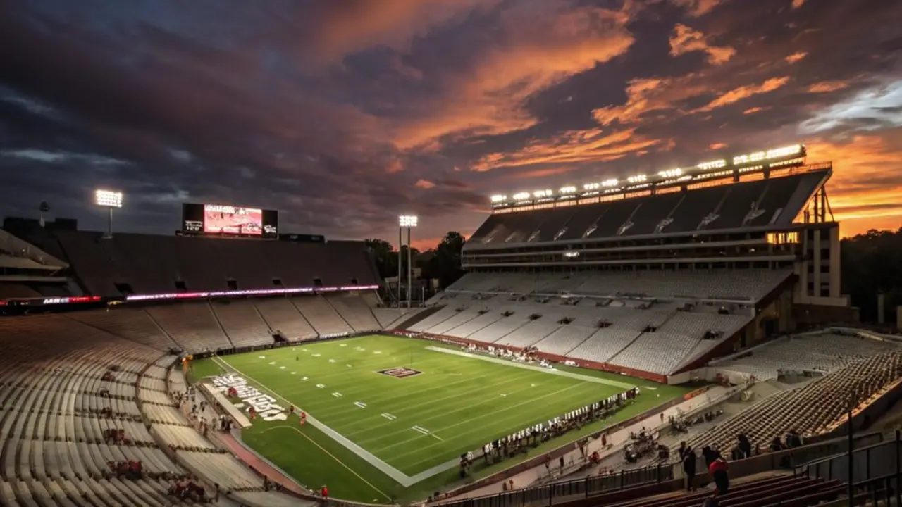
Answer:
[[[668,374],[749,324],[753,303],[788,275],[473,272],[410,330]]]

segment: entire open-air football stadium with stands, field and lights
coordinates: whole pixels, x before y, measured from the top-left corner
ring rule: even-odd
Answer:
[[[495,195],[416,308],[275,210],[8,218],[0,503],[889,504],[902,344],[836,325],[832,173],[796,144]]]

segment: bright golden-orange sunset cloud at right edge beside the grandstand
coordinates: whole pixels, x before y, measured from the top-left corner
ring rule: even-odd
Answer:
[[[833,161],[827,195],[842,235],[902,226],[902,127],[807,147],[809,160]]]

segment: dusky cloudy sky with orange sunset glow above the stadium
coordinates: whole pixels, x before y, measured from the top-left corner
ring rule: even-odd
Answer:
[[[469,235],[489,196],[790,143],[902,226],[898,0],[0,0],[0,215]]]

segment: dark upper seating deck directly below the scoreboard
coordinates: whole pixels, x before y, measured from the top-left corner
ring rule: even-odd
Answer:
[[[96,296],[178,291],[373,285],[362,242],[287,241],[60,231],[61,250],[87,293]]]

